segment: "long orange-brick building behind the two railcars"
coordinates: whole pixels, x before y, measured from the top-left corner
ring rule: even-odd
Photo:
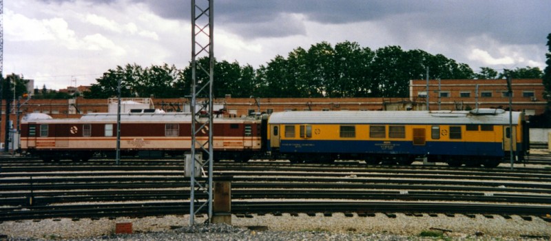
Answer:
[[[426,80],[412,80],[409,98],[225,98],[214,99],[215,110],[224,109],[227,116],[243,116],[253,112],[284,112],[296,110],[423,110],[426,109]],[[546,101],[543,100],[541,79],[513,79],[512,109],[527,115],[542,114]],[[148,98],[149,99],[149,98]],[[83,114],[108,112],[108,99],[30,99],[21,101],[19,118],[28,113],[49,114],[53,118],[79,118]],[[508,108],[507,84],[505,80],[430,80],[428,101],[431,110],[474,109],[475,107]],[[189,110],[188,98],[152,98],[152,104],[165,112]],[[198,101],[201,103],[201,101]],[[4,143],[6,103],[2,104],[0,146]],[[112,103],[111,103],[112,104]],[[15,107],[14,107],[15,106]],[[17,129],[17,101],[10,107],[12,129]]]

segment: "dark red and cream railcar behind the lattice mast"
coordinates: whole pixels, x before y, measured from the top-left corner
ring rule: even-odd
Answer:
[[[249,160],[261,151],[260,120],[214,118],[214,158]],[[88,160],[94,155],[114,156],[116,114],[94,113],[81,118],[51,118],[28,114],[21,123],[21,149],[50,160]],[[200,130],[198,140],[206,142]],[[191,149],[191,115],[188,113],[121,114],[121,155],[175,156]]]

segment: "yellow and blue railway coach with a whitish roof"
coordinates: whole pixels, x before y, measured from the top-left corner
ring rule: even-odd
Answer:
[[[278,112],[268,121],[268,150],[295,161],[365,160],[409,165],[417,157],[450,166],[495,167],[523,160],[528,127],[523,113],[470,111]],[[511,145],[512,142],[512,145]]]

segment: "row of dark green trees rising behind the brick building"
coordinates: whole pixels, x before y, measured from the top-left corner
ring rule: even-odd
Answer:
[[[208,66],[208,59],[198,59]],[[481,67],[474,72],[465,63],[457,63],[442,54],[423,50],[402,50],[387,46],[377,50],[362,48],[358,43],[345,41],[332,46],[322,42],[306,50],[295,48],[288,56],[275,56],[255,70],[237,61],[214,61],[214,96],[260,96],[264,98],[307,97],[408,97],[410,79],[495,79],[541,78],[538,67],[517,67],[498,72]],[[174,65],[127,64],[108,70],[97,78],[85,98],[121,96],[178,98],[191,93],[191,63],[184,70]],[[196,72],[198,83],[208,81],[207,74]]]

